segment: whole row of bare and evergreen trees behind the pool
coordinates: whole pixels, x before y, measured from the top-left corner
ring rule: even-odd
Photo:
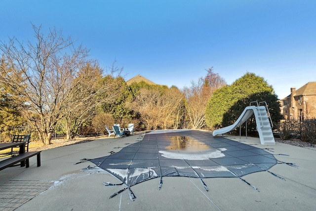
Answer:
[[[102,68],[88,50],[64,38],[47,35],[33,25],[35,41],[9,38],[0,42],[0,133],[9,127],[36,128],[50,144],[53,132],[105,133],[104,125],[134,123],[136,130],[216,128],[234,121],[249,100],[267,101],[279,121],[277,97],[264,79],[247,73],[227,85],[213,68],[188,87],[179,89],[145,82],[126,84],[122,68]],[[242,111],[242,110],[241,110]]]

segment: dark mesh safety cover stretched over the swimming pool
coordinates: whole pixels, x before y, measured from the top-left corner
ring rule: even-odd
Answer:
[[[160,188],[163,176],[240,178],[277,163],[272,154],[254,146],[213,137],[208,131],[184,129],[146,132],[142,141],[90,161],[128,188],[157,177]]]

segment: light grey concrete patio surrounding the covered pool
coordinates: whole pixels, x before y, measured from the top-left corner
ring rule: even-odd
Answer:
[[[41,167],[36,158],[30,168],[11,167],[0,171],[0,210],[16,211],[245,211],[245,210],[316,210],[316,149],[277,143],[260,145],[259,138],[228,136],[232,140],[253,145],[270,152],[277,161],[269,171],[242,176],[258,188],[254,190],[239,178],[169,177],[151,179],[132,186],[136,200],[128,191],[109,197],[122,186],[104,186],[103,182],[120,181],[89,161],[77,165],[81,159],[93,159],[118,152],[123,147],[141,141],[144,133],[123,138],[96,139],[91,142],[64,146],[41,153]]]

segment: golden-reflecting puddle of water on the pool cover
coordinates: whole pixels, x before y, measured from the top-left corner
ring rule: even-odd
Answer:
[[[166,146],[165,149],[196,152],[207,150],[209,149],[209,146],[188,136],[173,136],[171,137],[170,145]]]

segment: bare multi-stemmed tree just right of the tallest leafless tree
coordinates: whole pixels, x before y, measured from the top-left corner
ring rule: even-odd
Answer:
[[[103,77],[103,70],[96,62],[88,62],[79,69],[73,80],[74,88],[67,96],[68,105],[62,111],[61,126],[67,139],[73,138],[82,124],[92,120],[99,106],[114,101],[121,88],[114,74],[120,72],[121,69],[112,66],[110,73]]]

